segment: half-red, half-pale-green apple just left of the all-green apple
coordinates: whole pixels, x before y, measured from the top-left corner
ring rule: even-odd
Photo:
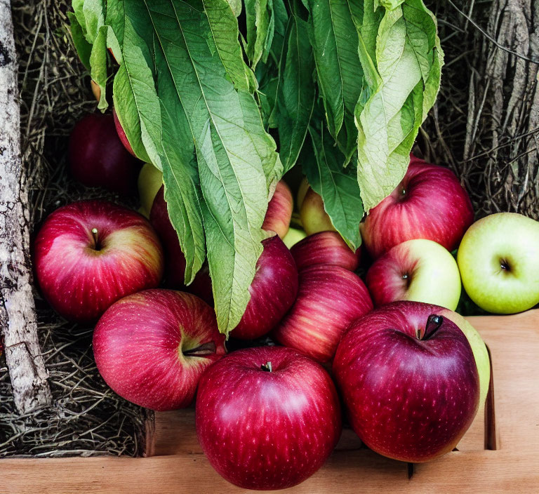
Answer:
[[[439,243],[413,239],[375,260],[366,285],[375,306],[413,300],[455,310],[460,299],[460,273],[455,259]]]

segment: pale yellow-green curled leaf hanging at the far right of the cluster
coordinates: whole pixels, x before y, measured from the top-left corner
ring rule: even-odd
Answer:
[[[359,55],[367,87],[355,111],[357,178],[366,211],[406,173],[411,147],[439,88],[443,62],[436,23],[421,0],[386,10],[374,38],[378,19],[380,12],[366,1]]]

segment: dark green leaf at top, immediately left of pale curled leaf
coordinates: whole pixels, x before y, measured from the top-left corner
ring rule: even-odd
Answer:
[[[352,0],[310,0],[309,7],[310,39],[328,128],[350,156],[356,145],[354,108],[363,79],[354,24],[361,18],[361,8]],[[339,138],[343,122],[345,134]]]

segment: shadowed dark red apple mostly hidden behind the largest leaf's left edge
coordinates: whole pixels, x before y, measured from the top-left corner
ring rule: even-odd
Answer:
[[[180,288],[194,293],[204,302],[213,305],[213,293],[211,292],[211,278],[208,266],[204,265],[193,282],[185,286],[185,256],[180,247],[178,234],[168,218],[168,210],[164,198],[164,186],[157,192],[149,213],[149,221],[152,223],[159,238],[163,242],[165,251],[165,283],[169,288]]]

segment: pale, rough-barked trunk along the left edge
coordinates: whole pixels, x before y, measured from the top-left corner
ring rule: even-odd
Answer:
[[[37,336],[25,182],[11,1],[0,0],[0,331],[15,406],[22,415],[52,401]]]

